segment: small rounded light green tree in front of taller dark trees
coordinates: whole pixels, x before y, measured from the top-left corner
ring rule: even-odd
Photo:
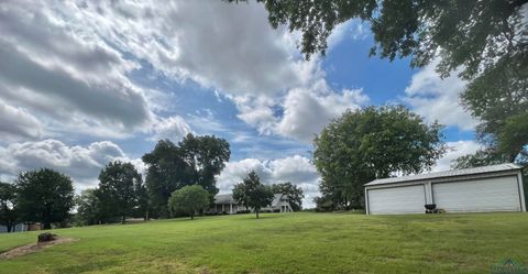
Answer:
[[[184,186],[174,191],[168,199],[168,209],[173,213],[182,212],[195,219],[195,213],[209,206],[209,193],[199,185]]]

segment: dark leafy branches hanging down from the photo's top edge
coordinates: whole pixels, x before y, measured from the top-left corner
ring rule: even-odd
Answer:
[[[391,61],[411,56],[415,67],[439,56],[438,69],[444,76],[460,66],[461,76],[471,78],[502,61],[517,69],[528,64],[526,0],[258,1],[264,2],[273,28],[287,24],[289,31],[301,32],[299,46],[306,58],[324,55],[332,30],[359,19],[374,34],[371,55]]]

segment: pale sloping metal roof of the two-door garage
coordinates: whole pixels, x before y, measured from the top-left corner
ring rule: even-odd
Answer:
[[[364,186],[377,186],[377,185],[386,185],[386,184],[397,184],[397,183],[407,183],[413,180],[424,180],[424,179],[433,179],[433,178],[446,178],[446,177],[455,177],[455,176],[466,176],[466,175],[475,175],[475,174],[486,174],[486,173],[496,173],[496,172],[507,172],[507,171],[515,171],[520,169],[522,166],[516,164],[499,164],[499,165],[488,165],[488,166],[480,166],[473,168],[463,168],[463,169],[452,169],[447,172],[435,172],[435,173],[425,173],[411,176],[403,176],[403,177],[392,177],[392,178],[383,178],[383,179],[375,179],[372,180]]]

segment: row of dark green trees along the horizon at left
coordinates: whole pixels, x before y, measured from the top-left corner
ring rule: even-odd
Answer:
[[[41,222],[43,229],[51,229],[52,224],[124,223],[129,217],[194,219],[213,204],[219,190],[216,176],[230,154],[229,143],[211,135],[189,133],[177,144],[161,140],[142,157],[147,167],[144,180],[132,163],[113,161],[101,169],[98,186],[79,195],[65,174],[51,168],[22,172],[13,184],[0,183],[0,224],[10,232],[19,222]],[[300,210],[300,187],[283,183],[268,188],[272,198],[274,193],[290,195],[292,207]]]

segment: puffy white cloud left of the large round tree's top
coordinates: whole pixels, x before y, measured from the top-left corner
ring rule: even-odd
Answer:
[[[239,118],[261,134],[278,134],[310,143],[332,119],[369,102],[362,89],[336,91],[323,78],[288,90],[284,97],[234,97]]]

